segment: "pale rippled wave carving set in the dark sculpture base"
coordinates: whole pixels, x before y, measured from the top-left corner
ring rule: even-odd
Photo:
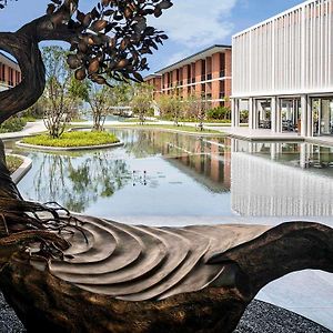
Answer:
[[[80,216],[82,220],[82,216]],[[208,265],[214,253],[248,242],[269,226],[132,226],[85,218],[74,231],[64,261],[51,261],[51,273],[79,287],[124,301],[163,300],[202,290],[223,274]]]

